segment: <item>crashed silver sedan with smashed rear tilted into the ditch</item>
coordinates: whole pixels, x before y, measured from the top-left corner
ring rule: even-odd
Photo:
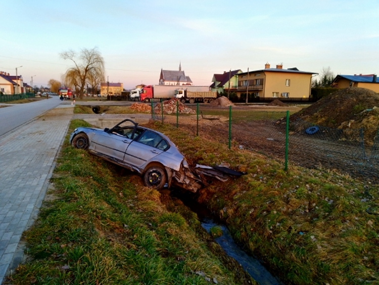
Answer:
[[[226,181],[232,170],[196,166],[194,175],[175,144],[162,133],[124,119],[111,129],[77,128],[70,136],[73,147],[87,149],[119,166],[143,176],[148,187],[171,185],[197,192],[207,184],[204,176]]]

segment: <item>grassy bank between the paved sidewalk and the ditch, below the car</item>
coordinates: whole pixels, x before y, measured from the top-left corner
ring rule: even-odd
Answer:
[[[74,120],[69,132],[77,126],[88,124]],[[48,194],[56,198],[24,233],[29,259],[7,282],[248,284],[250,278],[222,265],[207,234],[198,237],[196,215],[172,201],[188,222],[167,211],[161,193],[139,176],[72,148],[68,138],[51,181]]]

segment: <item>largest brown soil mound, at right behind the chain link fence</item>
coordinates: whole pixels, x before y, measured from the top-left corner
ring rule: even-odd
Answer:
[[[297,118],[326,128],[364,129],[373,138],[379,127],[379,94],[365,88],[341,89],[291,116]]]

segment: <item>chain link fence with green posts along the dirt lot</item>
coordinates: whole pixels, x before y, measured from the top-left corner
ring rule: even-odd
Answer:
[[[289,117],[289,112],[256,111],[249,106],[184,106],[170,101],[152,103],[153,119],[184,129],[190,136],[265,154],[282,162],[285,169],[288,163],[336,169],[379,182],[379,129],[330,129],[296,115]]]

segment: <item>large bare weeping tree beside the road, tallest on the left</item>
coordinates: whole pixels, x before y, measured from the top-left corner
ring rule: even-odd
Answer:
[[[89,74],[100,72],[104,74],[104,59],[97,48],[91,50],[82,49],[79,54],[69,50],[60,54],[61,58],[71,60],[74,66],[69,68],[65,73],[65,82],[74,86],[83,98],[84,87],[88,82]]]

